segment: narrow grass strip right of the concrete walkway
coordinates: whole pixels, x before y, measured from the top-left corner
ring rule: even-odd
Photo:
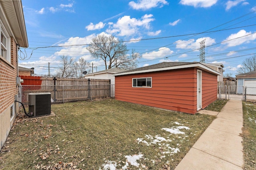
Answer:
[[[243,102],[244,169],[256,169],[256,103]]]

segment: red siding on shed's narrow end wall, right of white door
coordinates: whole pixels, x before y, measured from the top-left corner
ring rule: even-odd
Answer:
[[[202,72],[202,109],[217,100],[218,76]]]

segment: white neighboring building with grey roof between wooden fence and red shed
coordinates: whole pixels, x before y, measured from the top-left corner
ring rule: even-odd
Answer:
[[[108,79],[110,80],[111,84],[111,97],[115,96],[115,76],[113,74],[116,74],[118,72],[126,71],[126,69],[123,68],[110,68],[108,70],[102,70],[90,74],[86,74],[83,76],[83,78],[93,78],[93,79]]]

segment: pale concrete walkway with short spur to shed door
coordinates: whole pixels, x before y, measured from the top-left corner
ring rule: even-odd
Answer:
[[[204,131],[175,170],[242,170],[243,111],[241,100],[229,100],[220,112],[198,113],[217,118]]]

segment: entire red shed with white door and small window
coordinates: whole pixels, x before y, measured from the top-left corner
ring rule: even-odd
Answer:
[[[163,62],[114,74],[116,100],[195,114],[217,99],[219,72],[202,63]]]

